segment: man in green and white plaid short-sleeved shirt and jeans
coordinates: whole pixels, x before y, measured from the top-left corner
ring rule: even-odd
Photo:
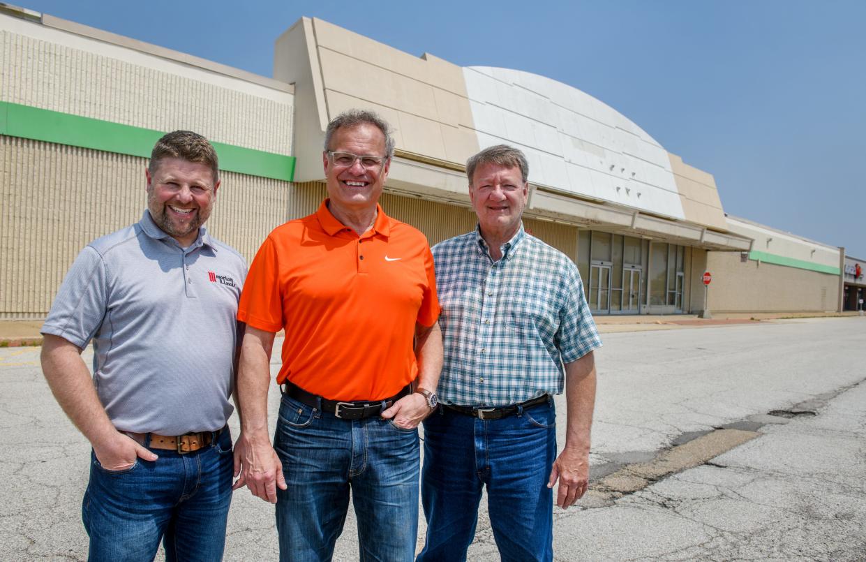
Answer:
[[[586,491],[601,340],[578,268],[523,229],[528,167],[506,145],[469,158],[478,227],[433,248],[445,356],[442,407],[424,421],[418,562],[466,559],[485,486],[501,559],[553,560],[553,485],[562,508]]]

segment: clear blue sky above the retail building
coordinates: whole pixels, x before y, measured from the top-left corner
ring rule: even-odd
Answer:
[[[266,76],[301,16],[543,74],[714,174],[729,214],[866,259],[864,0],[12,3]]]

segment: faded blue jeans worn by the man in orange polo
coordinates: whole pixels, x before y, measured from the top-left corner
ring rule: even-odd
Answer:
[[[283,395],[274,448],[280,559],[330,560],[349,490],[362,560],[410,562],[418,526],[418,431],[379,417],[343,420]]]

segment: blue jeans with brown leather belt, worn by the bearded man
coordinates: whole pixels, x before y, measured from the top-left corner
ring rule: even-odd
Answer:
[[[151,561],[159,540],[166,560],[221,560],[231,503],[228,428],[210,447],[186,455],[151,449],[156,461],[109,471],[91,452],[81,519],[91,561]]]

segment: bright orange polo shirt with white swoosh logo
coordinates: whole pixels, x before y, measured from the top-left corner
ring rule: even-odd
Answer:
[[[331,400],[380,400],[417,377],[416,322],[439,316],[424,235],[378,207],[364,236],[327,209],[274,229],[243,283],[237,319],[286,331],[277,382]]]

